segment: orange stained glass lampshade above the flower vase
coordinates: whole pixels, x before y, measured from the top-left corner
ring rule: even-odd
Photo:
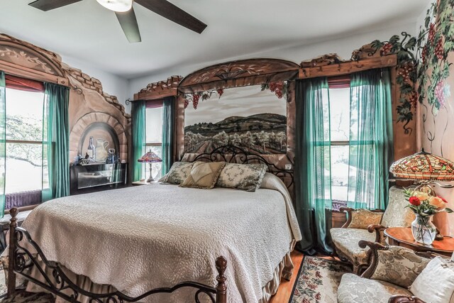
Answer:
[[[389,172],[404,179],[454,181],[454,162],[421,150],[392,163]]]

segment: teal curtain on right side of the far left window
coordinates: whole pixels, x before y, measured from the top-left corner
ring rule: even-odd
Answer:
[[[70,194],[70,89],[44,83],[42,201]]]

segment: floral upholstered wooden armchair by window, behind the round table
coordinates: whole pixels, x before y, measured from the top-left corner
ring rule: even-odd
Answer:
[[[348,213],[348,221],[341,228],[331,228],[331,238],[339,257],[351,263],[353,272],[357,275],[368,266],[369,250],[360,248],[358,242],[365,240],[385,244],[384,228],[409,227],[414,220],[414,214],[405,208],[407,204],[404,189],[391,187],[388,206],[384,212],[341,207],[341,211]]]

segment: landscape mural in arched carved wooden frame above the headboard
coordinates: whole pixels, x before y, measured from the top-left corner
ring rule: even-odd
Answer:
[[[250,59],[205,67],[178,85],[176,158],[235,145],[284,169],[294,159],[299,65]],[[199,119],[199,120],[198,120]]]

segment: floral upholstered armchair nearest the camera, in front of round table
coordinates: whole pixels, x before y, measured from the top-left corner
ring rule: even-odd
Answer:
[[[370,247],[370,266],[360,277],[342,276],[338,303],[424,303],[408,288],[434,255],[368,241],[360,241],[360,246]]]

